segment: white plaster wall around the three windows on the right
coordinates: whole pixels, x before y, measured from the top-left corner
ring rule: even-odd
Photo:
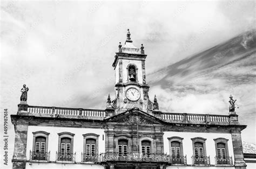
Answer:
[[[191,138],[203,137],[206,138],[206,155],[210,156],[210,162],[212,165],[215,164],[215,138],[226,138],[228,139],[228,154],[231,157],[234,164],[234,152],[232,145],[232,138],[230,133],[200,133],[200,132],[164,132],[164,153],[170,154],[169,140],[168,137],[178,136],[183,139],[183,154],[187,156],[187,164],[192,164],[191,157],[193,156],[193,146]]]

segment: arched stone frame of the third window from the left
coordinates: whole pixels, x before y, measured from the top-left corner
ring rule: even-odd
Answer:
[[[87,157],[96,157],[96,155],[99,154],[99,150],[98,150],[98,147],[99,147],[99,135],[96,135],[95,133],[86,133],[83,136],[84,136],[83,153],[85,154],[85,156],[87,156],[87,145],[89,145],[89,144],[86,144],[86,139],[95,139],[96,140],[95,144],[90,144],[90,156],[87,156]],[[95,145],[95,154],[94,154],[94,156],[91,156],[92,155],[91,145]]]

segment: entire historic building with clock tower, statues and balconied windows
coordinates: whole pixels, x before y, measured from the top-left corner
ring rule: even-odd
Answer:
[[[130,35],[114,56],[116,97],[104,110],[28,105],[24,86],[11,115],[14,168],[246,168],[246,125],[234,109],[161,112],[149,98],[144,47],[134,47]]]

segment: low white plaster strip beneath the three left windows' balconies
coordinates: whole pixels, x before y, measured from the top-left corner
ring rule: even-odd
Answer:
[[[99,164],[26,163],[26,168],[104,168]]]

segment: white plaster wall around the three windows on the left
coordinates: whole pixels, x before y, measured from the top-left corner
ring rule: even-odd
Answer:
[[[56,160],[56,151],[58,151],[58,139],[60,132],[71,132],[74,133],[74,145],[73,152],[76,152],[76,161],[81,161],[81,153],[83,152],[84,147],[84,136],[86,133],[95,133],[99,135],[99,145],[98,152],[105,152],[105,133],[104,129],[82,129],[82,128],[61,128],[61,127],[50,127],[50,126],[29,126],[28,128],[28,139],[26,145],[26,159],[29,160],[29,151],[32,151],[33,146],[33,133],[35,131],[46,131],[49,132],[49,143],[48,143],[48,151],[50,152],[50,161]],[[104,140],[103,140],[104,135]]]

